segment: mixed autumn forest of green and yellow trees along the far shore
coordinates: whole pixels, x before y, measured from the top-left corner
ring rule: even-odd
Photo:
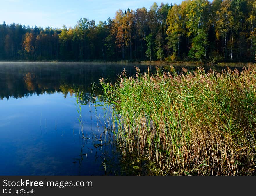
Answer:
[[[118,10],[98,24],[80,18],[73,28],[3,22],[0,60],[254,61],[255,17],[255,0],[186,0]]]

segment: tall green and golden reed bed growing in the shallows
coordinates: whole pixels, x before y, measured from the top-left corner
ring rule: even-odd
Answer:
[[[123,157],[137,152],[162,175],[256,174],[256,66],[182,74],[125,70],[100,80]]]

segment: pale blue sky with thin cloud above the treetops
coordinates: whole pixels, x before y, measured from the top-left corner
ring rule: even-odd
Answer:
[[[74,27],[79,18],[99,21],[113,19],[119,9],[125,11],[145,7],[147,10],[156,2],[157,5],[180,4],[182,0],[0,0],[0,23],[10,25],[19,23],[30,27],[62,28],[63,25]]]

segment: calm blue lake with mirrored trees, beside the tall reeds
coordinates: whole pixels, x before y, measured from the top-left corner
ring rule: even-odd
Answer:
[[[1,62],[0,175],[147,175],[145,163],[137,170],[122,159],[105,129],[108,111],[92,102],[100,103],[99,78],[114,83],[124,68],[136,73],[111,63]]]

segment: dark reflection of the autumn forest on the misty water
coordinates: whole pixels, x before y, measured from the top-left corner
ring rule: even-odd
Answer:
[[[135,74],[133,66],[97,63],[1,63],[0,98],[22,98],[32,94],[61,92],[64,96],[72,89],[91,92],[91,84],[99,86],[99,78],[114,82],[123,69]],[[95,89],[99,95],[100,88]]]

